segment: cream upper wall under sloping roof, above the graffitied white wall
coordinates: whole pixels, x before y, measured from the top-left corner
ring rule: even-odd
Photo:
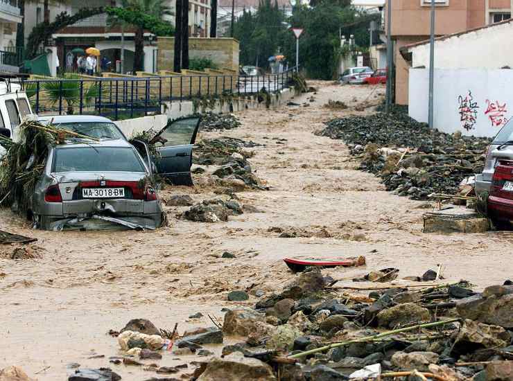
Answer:
[[[513,21],[435,41],[440,69],[513,67]],[[429,67],[429,44],[410,48],[412,67]]]

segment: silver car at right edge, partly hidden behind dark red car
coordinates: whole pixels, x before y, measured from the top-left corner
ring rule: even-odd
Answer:
[[[499,160],[513,161],[513,120],[510,120],[496,134],[486,152],[485,168],[476,175],[476,195],[490,192],[495,167]]]

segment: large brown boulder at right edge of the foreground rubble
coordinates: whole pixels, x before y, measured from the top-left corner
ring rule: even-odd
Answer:
[[[513,285],[490,286],[482,294],[456,303],[456,310],[464,319],[513,328]]]

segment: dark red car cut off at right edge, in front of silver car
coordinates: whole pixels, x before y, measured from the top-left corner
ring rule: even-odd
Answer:
[[[488,197],[488,213],[496,227],[513,221],[513,161],[499,160],[492,177]]]

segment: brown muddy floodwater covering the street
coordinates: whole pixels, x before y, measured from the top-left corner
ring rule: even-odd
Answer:
[[[299,107],[246,111],[238,114],[242,127],[200,133],[200,139],[231,136],[263,144],[252,148],[250,163],[270,190],[237,193],[239,202],[263,213],[208,224],[178,219],[185,206],[166,206],[170,226],[157,231],[55,233],[33,231],[0,211],[1,229],[38,238],[29,245],[32,259],[3,259],[12,247],[0,247],[0,369],[17,365],[37,380],[64,380],[67,365],[76,362],[110,366],[123,380],[155,377],[139,366],[109,363],[119,355],[116,339],[107,335],[111,328],[119,330],[138,317],[168,330],[178,323],[180,333],[211,326],[207,314],[222,321],[222,308],[254,305],[254,292],[271,292],[293,278],[282,262],[287,256],[365,255],[366,267],[326,272],[347,283],[385,267],[398,267],[399,276],[421,275],[437,263],[449,281],[465,278],[477,288],[511,278],[512,233],[421,233],[421,216],[429,210],[425,202],[385,192],[379,179],[345,161],[349,152],[342,141],[313,134],[324,121],[354,112],[365,100],[377,103],[382,87],[312,85],[320,87],[318,94],[296,98]],[[323,107],[329,100],[341,100],[349,109]],[[168,187],[162,198],[218,196],[207,175],[195,177],[194,188]],[[302,237],[279,238],[270,227],[299,229]],[[236,258],[220,258],[225,251]],[[250,300],[227,301],[231,290],[247,290]],[[189,319],[195,312],[205,317]],[[200,357],[168,353],[158,363],[194,360]]]

